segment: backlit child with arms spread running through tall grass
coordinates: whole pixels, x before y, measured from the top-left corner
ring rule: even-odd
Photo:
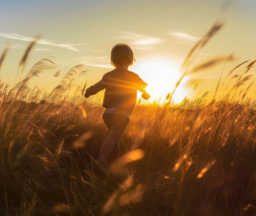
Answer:
[[[128,71],[133,64],[132,49],[124,43],[116,44],[111,51],[111,64],[114,70],[106,73],[101,81],[89,87],[85,97],[90,97],[105,89],[103,107],[106,108],[102,118],[109,132],[103,141],[97,162],[104,169],[113,154],[118,151],[118,144],[129,123],[129,117],[136,103],[137,90],[143,92],[142,97],[149,99],[150,94],[145,90],[146,82],[133,72]]]

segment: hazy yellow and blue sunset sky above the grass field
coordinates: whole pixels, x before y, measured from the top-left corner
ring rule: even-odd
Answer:
[[[175,74],[173,70],[178,71],[196,41],[221,20],[223,29],[196,62],[231,53],[235,61],[195,75],[202,83],[198,89],[186,89],[187,94],[204,90],[213,94],[223,69],[226,74],[235,65],[256,58],[255,9],[254,0],[0,0],[0,49],[10,46],[0,79],[13,83],[24,50],[32,38],[40,35],[26,70],[47,57],[61,71],[59,77],[40,75],[40,85],[54,86],[78,64],[86,65],[88,84],[98,81],[111,70],[109,54],[113,45],[125,42],[137,60],[132,69],[152,81],[149,85],[155,90],[161,85],[166,88],[173,76],[169,77],[161,65],[166,63]],[[147,67],[152,62],[156,62],[152,67],[156,72]],[[254,84],[251,95],[255,92]]]

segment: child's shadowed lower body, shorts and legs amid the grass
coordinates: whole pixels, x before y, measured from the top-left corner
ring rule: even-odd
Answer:
[[[104,113],[103,121],[109,132],[103,141],[97,160],[110,162],[119,152],[119,142],[129,123],[129,118],[117,113]]]

